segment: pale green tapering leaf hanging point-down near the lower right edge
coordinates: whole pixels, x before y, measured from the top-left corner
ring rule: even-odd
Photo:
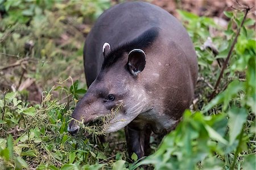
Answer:
[[[233,144],[242,130],[243,123],[246,121],[247,111],[244,108],[233,108],[228,111],[228,115],[229,143]]]

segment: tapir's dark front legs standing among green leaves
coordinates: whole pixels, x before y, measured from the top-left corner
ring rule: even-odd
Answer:
[[[125,127],[126,143],[130,157],[133,152],[137,154],[138,158],[149,154],[148,151],[150,150],[150,134],[151,130],[149,129],[138,130],[137,128],[131,127],[131,125]]]

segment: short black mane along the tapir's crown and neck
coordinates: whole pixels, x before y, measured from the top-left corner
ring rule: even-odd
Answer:
[[[108,56],[105,57],[102,69],[108,68],[113,65],[118,59],[123,56],[123,53],[129,53],[134,48],[146,48],[148,47],[156,37],[158,36],[159,28],[152,27],[147,31],[143,32],[140,36],[132,40],[131,42],[127,42],[119,45],[117,48],[113,49]]]

